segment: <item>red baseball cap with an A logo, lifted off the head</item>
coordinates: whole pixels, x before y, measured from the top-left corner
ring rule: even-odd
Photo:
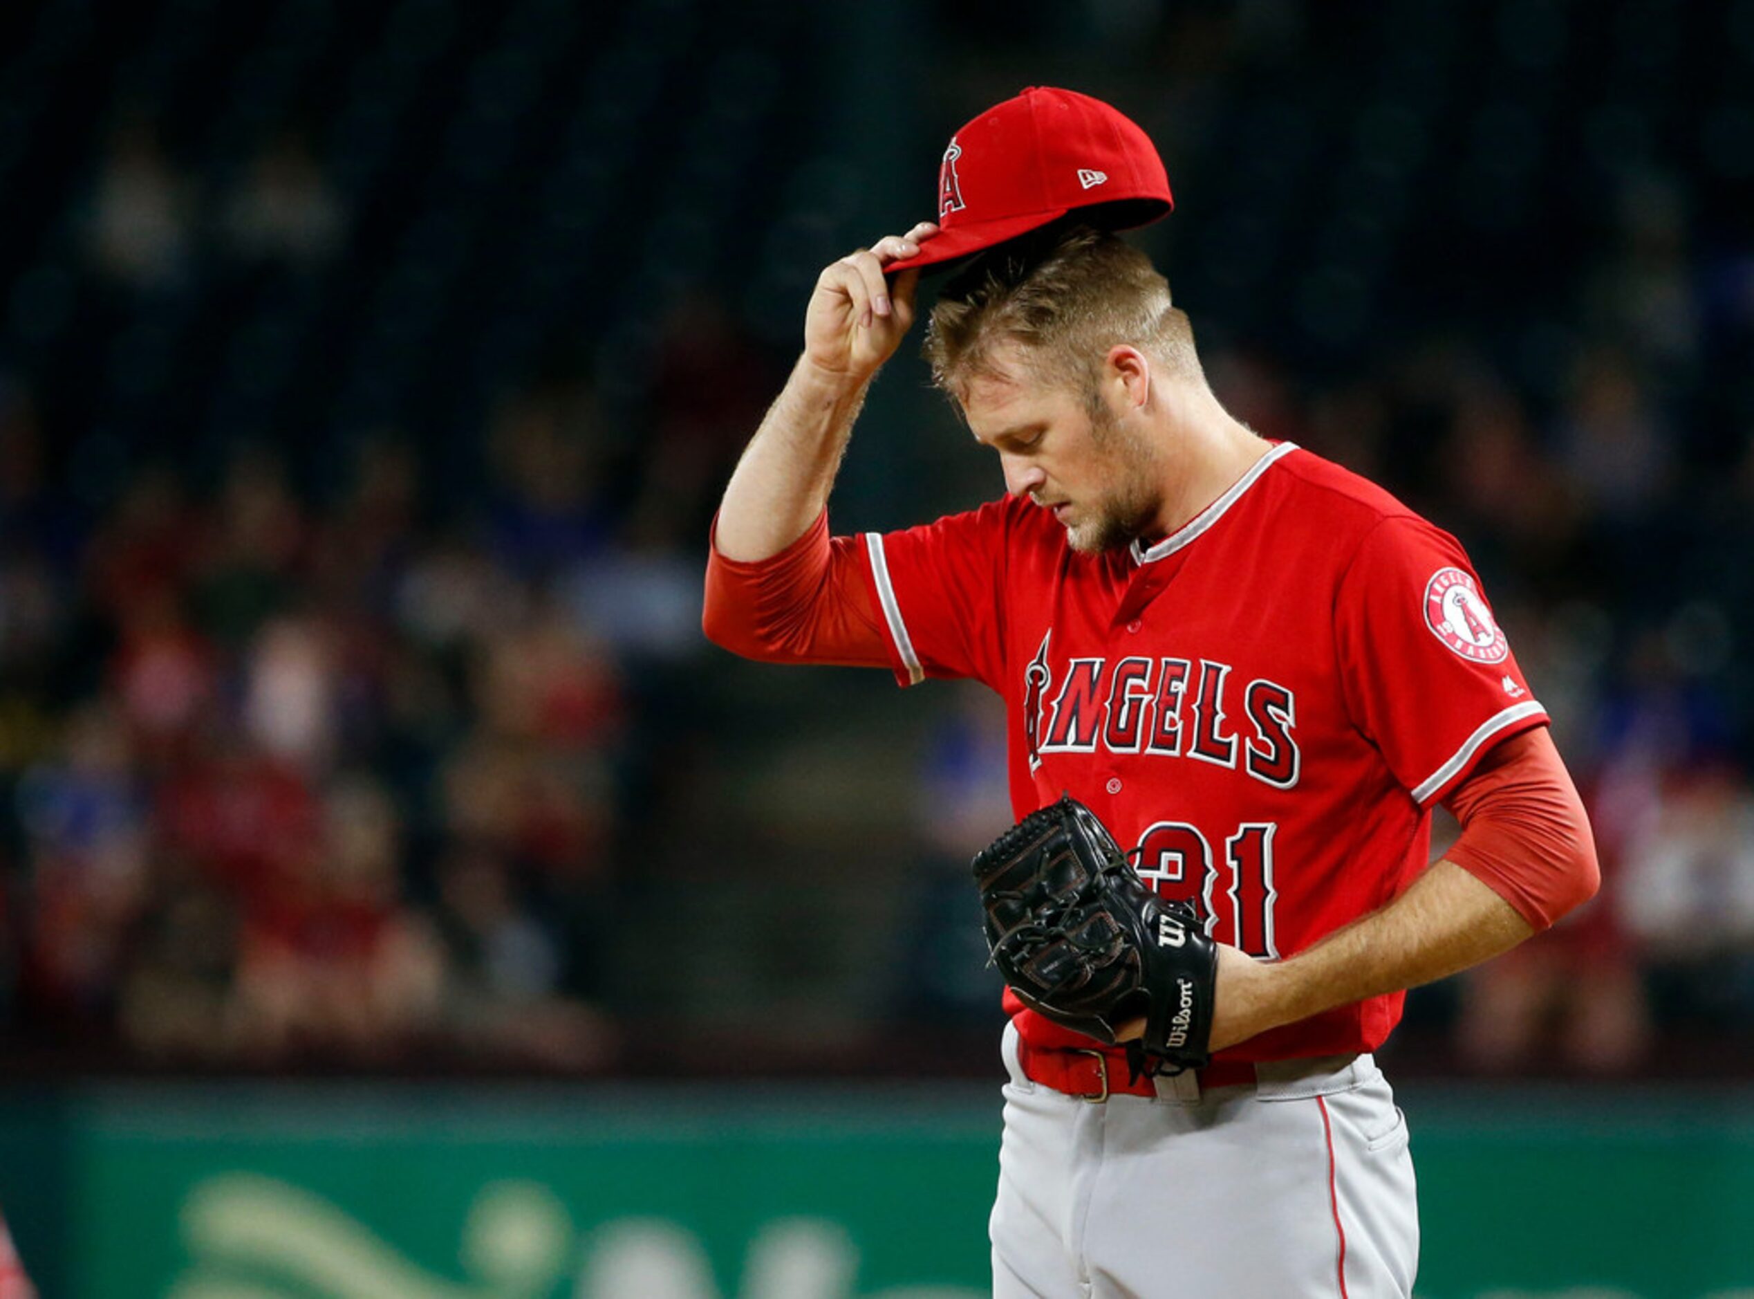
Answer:
[[[938,233],[884,272],[979,253],[1080,207],[1116,230],[1166,216],[1175,200],[1151,137],[1089,95],[1030,86],[951,137],[938,169]]]

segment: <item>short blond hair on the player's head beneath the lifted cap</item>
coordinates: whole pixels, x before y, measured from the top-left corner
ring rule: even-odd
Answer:
[[[995,249],[945,286],[926,327],[933,383],[959,395],[970,379],[996,374],[1002,341],[1023,346],[1033,376],[1091,404],[1110,348],[1123,342],[1203,383],[1193,327],[1170,304],[1170,283],[1144,253],[1084,225]]]

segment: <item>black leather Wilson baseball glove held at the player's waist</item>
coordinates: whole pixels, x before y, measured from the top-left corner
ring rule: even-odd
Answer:
[[[1145,886],[1089,807],[1068,793],[1030,813],[973,872],[993,964],[1026,1006],[1109,1044],[1144,1018],[1145,1057],[1209,1062],[1217,948],[1189,902]]]

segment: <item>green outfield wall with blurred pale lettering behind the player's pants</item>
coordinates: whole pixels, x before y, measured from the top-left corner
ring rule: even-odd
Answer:
[[[1754,1094],[1401,1099],[1422,1299],[1754,1299]],[[46,1299],[972,1299],[996,1120],[991,1088],[7,1094],[0,1204]]]

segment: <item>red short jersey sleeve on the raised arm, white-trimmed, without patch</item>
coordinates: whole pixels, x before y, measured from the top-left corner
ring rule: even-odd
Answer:
[[[1005,676],[1003,602],[1010,511],[991,502],[903,532],[866,532],[866,574],[896,679]]]

